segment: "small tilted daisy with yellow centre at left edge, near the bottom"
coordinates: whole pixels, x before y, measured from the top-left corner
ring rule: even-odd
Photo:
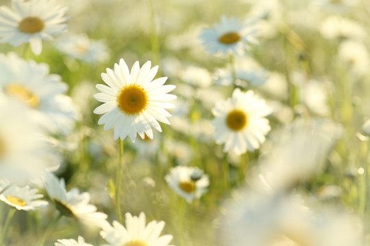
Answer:
[[[0,190],[11,185],[8,180],[0,180]],[[0,200],[18,210],[36,210],[38,207],[47,206],[48,202],[40,200],[43,195],[37,193],[37,189],[32,189],[28,185],[18,187],[12,184],[0,195]]]

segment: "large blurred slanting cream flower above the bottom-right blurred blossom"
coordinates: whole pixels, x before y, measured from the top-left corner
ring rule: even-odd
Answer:
[[[322,170],[342,128],[330,120],[296,120],[271,134],[272,150],[259,161],[251,186],[268,184],[275,192],[291,189]]]

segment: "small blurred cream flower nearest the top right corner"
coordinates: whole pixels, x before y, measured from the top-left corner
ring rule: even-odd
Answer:
[[[319,27],[321,35],[336,40],[363,40],[366,31],[360,23],[342,16],[329,16]]]

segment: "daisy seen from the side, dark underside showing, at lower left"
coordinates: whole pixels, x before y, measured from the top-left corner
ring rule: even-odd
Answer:
[[[63,179],[58,180],[53,174],[47,174],[45,189],[49,197],[53,199],[56,208],[66,217],[78,219],[87,226],[99,226],[103,228],[109,225],[106,221],[107,215],[97,212],[97,207],[90,202],[88,192],[80,193],[77,188],[66,191]]]

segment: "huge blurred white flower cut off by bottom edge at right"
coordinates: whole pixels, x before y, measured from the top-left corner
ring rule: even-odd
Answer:
[[[225,205],[221,245],[364,245],[360,219],[339,210],[312,211],[298,195],[245,190]]]

